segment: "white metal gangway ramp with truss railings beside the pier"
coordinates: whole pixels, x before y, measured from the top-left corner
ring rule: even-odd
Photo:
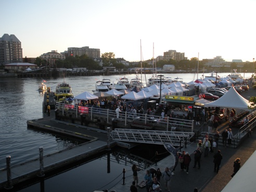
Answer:
[[[165,143],[172,146],[185,145],[194,132],[176,132],[176,131],[151,131],[151,130],[133,130],[133,129],[114,129],[111,132],[113,140],[122,142],[159,144]]]

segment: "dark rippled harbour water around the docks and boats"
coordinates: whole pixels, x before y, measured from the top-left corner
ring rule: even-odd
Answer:
[[[164,74],[174,78],[182,78],[184,82],[197,79],[194,74]],[[198,78],[202,74],[198,74]],[[204,74],[206,75],[206,74]],[[228,73],[218,73],[220,76]],[[68,76],[65,81],[72,87],[74,95],[95,89],[95,82],[102,79],[128,79],[135,74],[120,74],[113,76]],[[149,79],[151,75],[147,75]],[[251,73],[245,73],[249,78]],[[142,76],[145,81],[145,76]],[[11,165],[19,164],[39,156],[39,147],[44,147],[44,154],[56,152],[79,144],[78,140],[67,139],[58,135],[27,129],[27,120],[42,118],[43,95],[37,91],[43,79],[0,79],[0,169],[5,168],[6,156],[11,156]],[[47,86],[52,91],[62,78],[46,79]],[[79,167],[63,172],[44,181],[45,191],[93,191],[96,189],[110,188],[113,183],[107,185],[122,173],[123,168],[127,174],[131,174],[130,165],[122,162],[111,162],[111,172],[107,173],[107,156],[100,157]],[[130,173],[129,173],[130,172]],[[121,177],[120,177],[121,178]],[[115,181],[117,182],[117,181]],[[121,181],[118,181],[121,183]],[[105,186],[106,185],[106,186]],[[34,184],[20,191],[40,191],[40,183]]]

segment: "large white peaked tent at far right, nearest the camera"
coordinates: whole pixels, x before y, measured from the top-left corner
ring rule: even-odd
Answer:
[[[226,107],[244,110],[249,110],[249,106],[251,106],[251,102],[239,95],[234,87],[231,87],[221,98],[204,105],[204,107]]]

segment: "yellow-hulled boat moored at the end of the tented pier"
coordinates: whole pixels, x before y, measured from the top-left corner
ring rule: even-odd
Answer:
[[[66,83],[65,81],[62,83],[59,83],[56,86],[55,97],[57,100],[62,99],[62,98],[74,97],[74,95],[72,94],[71,86],[68,83]]]

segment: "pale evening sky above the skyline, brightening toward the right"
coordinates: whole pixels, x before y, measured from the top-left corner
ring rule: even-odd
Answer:
[[[88,46],[127,61],[168,50],[199,60],[256,58],[256,0],[0,0],[0,6],[0,37],[14,34],[23,57]]]

